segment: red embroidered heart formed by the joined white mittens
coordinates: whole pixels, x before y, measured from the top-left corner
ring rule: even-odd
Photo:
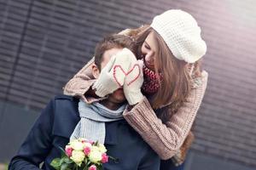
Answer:
[[[135,70],[136,68],[138,69],[138,74],[136,77],[134,77],[131,80],[131,82],[127,82],[127,86],[130,86],[131,83],[135,82],[137,80],[137,78],[140,76],[140,74],[141,74],[140,66],[138,64],[135,64],[135,65],[133,65],[133,67],[131,68],[130,71],[125,72],[121,65],[114,65],[113,66],[113,78],[114,78],[115,82],[117,82],[120,87],[122,86],[121,83],[119,82],[118,78],[116,77],[116,71],[118,69],[120,69],[120,71],[122,71],[125,74],[125,77],[127,77],[129,74],[131,74],[131,72],[136,71]]]

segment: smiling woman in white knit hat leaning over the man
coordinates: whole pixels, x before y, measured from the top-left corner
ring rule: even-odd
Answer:
[[[207,87],[207,72],[200,71],[200,59],[207,50],[201,29],[190,14],[172,9],[155,16],[150,26],[121,33],[137,41],[137,58],[145,65],[142,89],[147,97],[128,100],[134,105],[124,112],[125,120],[167,160],[161,162],[161,169],[183,169],[184,155],[193,140],[189,131]],[[78,95],[90,103],[95,94],[104,97],[113,92],[111,87],[97,91],[88,69],[92,62],[67,82],[64,94]],[[84,98],[85,93],[92,97]]]

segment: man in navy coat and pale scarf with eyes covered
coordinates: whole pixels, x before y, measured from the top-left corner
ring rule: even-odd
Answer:
[[[122,119],[126,104],[122,85],[128,71],[132,72],[131,65],[135,65],[131,51],[123,48],[132,50],[132,44],[129,37],[113,35],[97,45],[93,77],[116,78],[117,84],[112,85],[118,85],[119,89],[105,99],[86,103],[70,96],[56,96],[42,111],[18,154],[10,161],[9,169],[39,169],[42,162],[43,169],[53,169],[49,163],[61,156],[59,147],[64,148],[69,139],[79,137],[102,141],[108,155],[118,159],[108,161],[103,169],[159,169],[160,158]],[[127,65],[120,68],[118,63],[123,62]],[[101,71],[105,74],[100,74]]]

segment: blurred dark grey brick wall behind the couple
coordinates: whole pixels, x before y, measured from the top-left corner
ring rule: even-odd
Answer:
[[[0,161],[112,32],[181,8],[207,42],[207,93],[186,169],[256,167],[256,1],[0,0]],[[3,151],[4,150],[4,151]]]

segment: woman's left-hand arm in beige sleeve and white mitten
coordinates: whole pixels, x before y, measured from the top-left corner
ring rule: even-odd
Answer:
[[[90,60],[90,62],[87,65],[85,65],[82,68],[82,70],[80,70],[79,73],[73,77],[72,80],[67,82],[67,85],[64,88],[64,94],[71,96],[79,96],[81,99],[84,99],[84,101],[89,104],[92,101],[105,99],[105,97],[107,97],[108,94],[112,94],[113,91],[115,91],[124,84],[124,72],[128,72],[131,62],[137,63],[135,55],[131,52],[130,49],[123,48],[119,53],[114,54],[111,57],[111,59],[109,59],[107,65],[104,65],[99,77],[97,77],[96,80],[91,80],[92,77],[90,77],[90,75],[92,72],[93,61]],[[119,67],[121,68],[121,70],[116,70],[116,68]],[[91,87],[95,88],[96,92],[93,92]],[[89,94],[89,92],[92,93]],[[85,93],[86,98],[84,97]],[[96,97],[97,99],[95,99]]]

